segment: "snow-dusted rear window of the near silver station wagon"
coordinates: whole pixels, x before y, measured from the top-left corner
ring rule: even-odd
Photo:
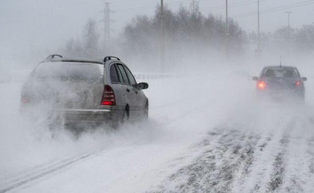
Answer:
[[[102,64],[51,62],[39,64],[36,78],[61,78],[79,82],[101,82],[104,76]]]

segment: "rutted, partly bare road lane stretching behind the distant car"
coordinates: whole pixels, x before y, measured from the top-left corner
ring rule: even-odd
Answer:
[[[202,152],[152,192],[313,192],[313,119],[277,116],[282,122],[262,132],[209,131],[197,147]]]

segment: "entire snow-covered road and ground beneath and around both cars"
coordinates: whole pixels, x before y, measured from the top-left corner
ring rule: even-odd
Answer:
[[[0,193],[314,192],[313,92],[264,104],[254,82],[200,76],[147,80],[147,123],[79,139],[23,120],[20,84],[0,84]]]

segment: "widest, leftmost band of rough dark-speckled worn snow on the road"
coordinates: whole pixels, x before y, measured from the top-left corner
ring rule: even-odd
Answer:
[[[250,168],[259,140],[250,133],[225,130],[216,144],[210,144],[191,164],[172,174],[156,192],[230,191],[241,166]]]

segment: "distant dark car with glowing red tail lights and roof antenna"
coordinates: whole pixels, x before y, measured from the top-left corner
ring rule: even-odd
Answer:
[[[305,88],[299,70],[294,66],[265,66],[257,81],[257,94],[262,98],[286,99],[297,98],[304,100]]]

